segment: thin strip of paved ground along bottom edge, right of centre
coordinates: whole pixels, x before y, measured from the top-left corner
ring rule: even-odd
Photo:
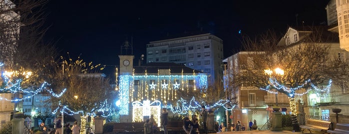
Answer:
[[[314,131],[312,131],[314,133]],[[249,134],[249,133],[261,133],[261,134],[273,134],[273,133],[279,133],[279,134],[298,134],[298,133],[302,133],[302,131],[299,132],[292,132],[289,130],[283,130],[283,131],[271,131],[271,130],[252,130],[252,131],[224,131],[224,132],[217,132],[217,134]],[[304,133],[310,133],[309,131],[304,131]]]

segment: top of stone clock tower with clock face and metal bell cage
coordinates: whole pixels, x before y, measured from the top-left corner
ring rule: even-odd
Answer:
[[[132,43],[130,44],[127,40],[121,45],[120,58],[120,75],[132,75],[133,71],[133,48]],[[130,54],[128,54],[130,53]]]

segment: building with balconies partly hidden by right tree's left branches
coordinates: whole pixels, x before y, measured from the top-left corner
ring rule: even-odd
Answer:
[[[231,113],[233,115],[231,122],[236,123],[239,120],[241,124],[248,126],[250,120],[256,119],[260,128],[267,122],[270,113],[269,110],[266,110],[268,109],[268,105],[265,102],[265,97],[268,96],[267,91],[252,86],[249,81],[244,82],[238,88],[235,88],[232,82],[235,72],[244,71],[241,64],[248,62],[251,53],[253,52],[240,51],[223,60],[226,64],[224,87],[225,90],[231,91],[229,98],[232,98],[232,101],[237,103]]]

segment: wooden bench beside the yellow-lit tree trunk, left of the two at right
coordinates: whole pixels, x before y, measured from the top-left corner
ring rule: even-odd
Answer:
[[[306,124],[300,125],[300,127],[303,128],[302,133],[304,133],[305,129],[308,129],[310,133],[312,133],[310,129],[328,133],[327,130],[331,129],[331,122],[317,119],[307,119]]]

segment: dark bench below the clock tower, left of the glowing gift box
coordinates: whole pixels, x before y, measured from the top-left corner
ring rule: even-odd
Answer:
[[[113,126],[113,132],[143,132],[144,122],[116,122]]]

